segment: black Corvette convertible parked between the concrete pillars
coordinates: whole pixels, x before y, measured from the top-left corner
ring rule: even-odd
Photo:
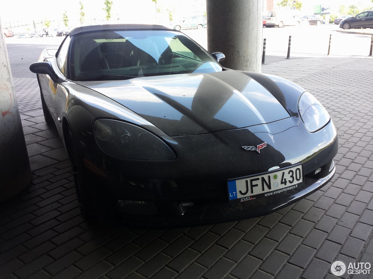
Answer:
[[[325,186],[338,136],[284,78],[230,70],[157,25],[69,32],[37,74],[47,123],[72,162],[84,217],[188,227],[263,216]]]

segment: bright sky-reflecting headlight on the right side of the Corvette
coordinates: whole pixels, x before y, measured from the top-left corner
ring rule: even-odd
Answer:
[[[304,92],[298,101],[298,112],[309,132],[316,132],[330,121],[329,113],[314,96]]]

